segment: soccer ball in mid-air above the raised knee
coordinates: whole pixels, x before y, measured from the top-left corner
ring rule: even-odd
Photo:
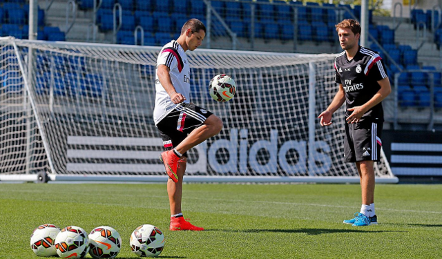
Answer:
[[[235,80],[228,75],[215,75],[209,83],[209,94],[216,102],[227,102],[235,93]]]

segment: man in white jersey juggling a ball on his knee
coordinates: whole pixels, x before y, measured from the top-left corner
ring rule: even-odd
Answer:
[[[198,19],[190,19],[182,26],[181,35],[161,50],[155,71],[155,109],[153,119],[160,131],[166,151],[160,159],[169,180],[167,193],[171,208],[169,229],[204,230],[184,220],[181,210],[182,181],[190,148],[217,135],[222,121],[204,108],[190,103],[190,67],[186,50],[202,44],[206,27]]]

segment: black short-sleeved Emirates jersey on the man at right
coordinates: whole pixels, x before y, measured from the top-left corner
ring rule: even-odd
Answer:
[[[334,59],[336,83],[342,84],[345,90],[345,103],[348,108],[361,106],[372,99],[381,89],[378,82],[387,77],[382,58],[374,50],[359,46],[352,60],[347,59],[345,51]],[[346,109],[345,117],[352,114]],[[361,119],[380,119],[384,114],[382,103],[377,104],[363,115]]]

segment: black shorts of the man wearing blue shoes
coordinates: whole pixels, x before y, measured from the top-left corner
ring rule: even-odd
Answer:
[[[369,119],[353,124],[345,123],[345,162],[379,161],[382,126],[382,122]]]

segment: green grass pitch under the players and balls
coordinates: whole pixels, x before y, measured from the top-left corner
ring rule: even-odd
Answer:
[[[137,257],[129,236],[141,224],[164,231],[161,258],[442,258],[442,185],[378,184],[379,224],[343,224],[360,193],[357,184],[185,184],[184,217],[206,231],[173,232],[165,184],[0,184],[0,258],[38,258],[30,234],[44,223],[114,227],[117,258]]]

